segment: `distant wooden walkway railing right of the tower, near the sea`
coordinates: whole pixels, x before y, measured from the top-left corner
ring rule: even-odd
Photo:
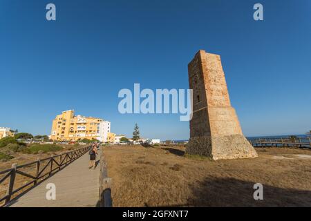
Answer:
[[[286,137],[286,138],[249,138],[247,139],[255,147],[300,147],[311,148],[310,137]]]

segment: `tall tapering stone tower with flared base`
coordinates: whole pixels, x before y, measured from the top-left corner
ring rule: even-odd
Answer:
[[[186,153],[213,160],[257,157],[230,104],[220,56],[199,50],[188,65],[193,117]]]

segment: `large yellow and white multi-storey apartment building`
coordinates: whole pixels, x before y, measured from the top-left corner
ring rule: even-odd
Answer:
[[[69,110],[53,119],[50,139],[77,141],[86,138],[107,142],[110,129],[111,123],[104,119],[75,115],[73,110]]]

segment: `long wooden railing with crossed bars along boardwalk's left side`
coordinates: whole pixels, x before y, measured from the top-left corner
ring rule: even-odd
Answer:
[[[91,146],[86,146],[84,148],[68,151],[59,155],[53,155],[51,157],[37,160],[35,162],[30,162],[28,164],[12,164],[11,169],[0,171],[0,175],[3,175],[3,177],[0,178],[0,184],[4,185],[4,182],[8,181],[6,195],[3,197],[0,195],[0,206],[8,204],[8,202],[12,200],[12,197],[18,197],[27,189],[29,189],[31,185],[35,186],[39,184],[39,182],[45,180],[47,177],[50,177],[50,175],[57,173],[57,171],[63,169],[74,160],[77,160],[77,158],[81,157],[89,150],[91,150]],[[22,171],[22,169],[30,170]],[[17,175],[26,177],[28,180],[26,181],[26,184],[23,184],[22,186],[19,186],[15,189]]]

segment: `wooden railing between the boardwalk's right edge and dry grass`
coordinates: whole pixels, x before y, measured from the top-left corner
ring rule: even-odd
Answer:
[[[108,177],[107,164],[102,151],[100,155],[100,207],[112,207],[111,182],[112,179]]]

